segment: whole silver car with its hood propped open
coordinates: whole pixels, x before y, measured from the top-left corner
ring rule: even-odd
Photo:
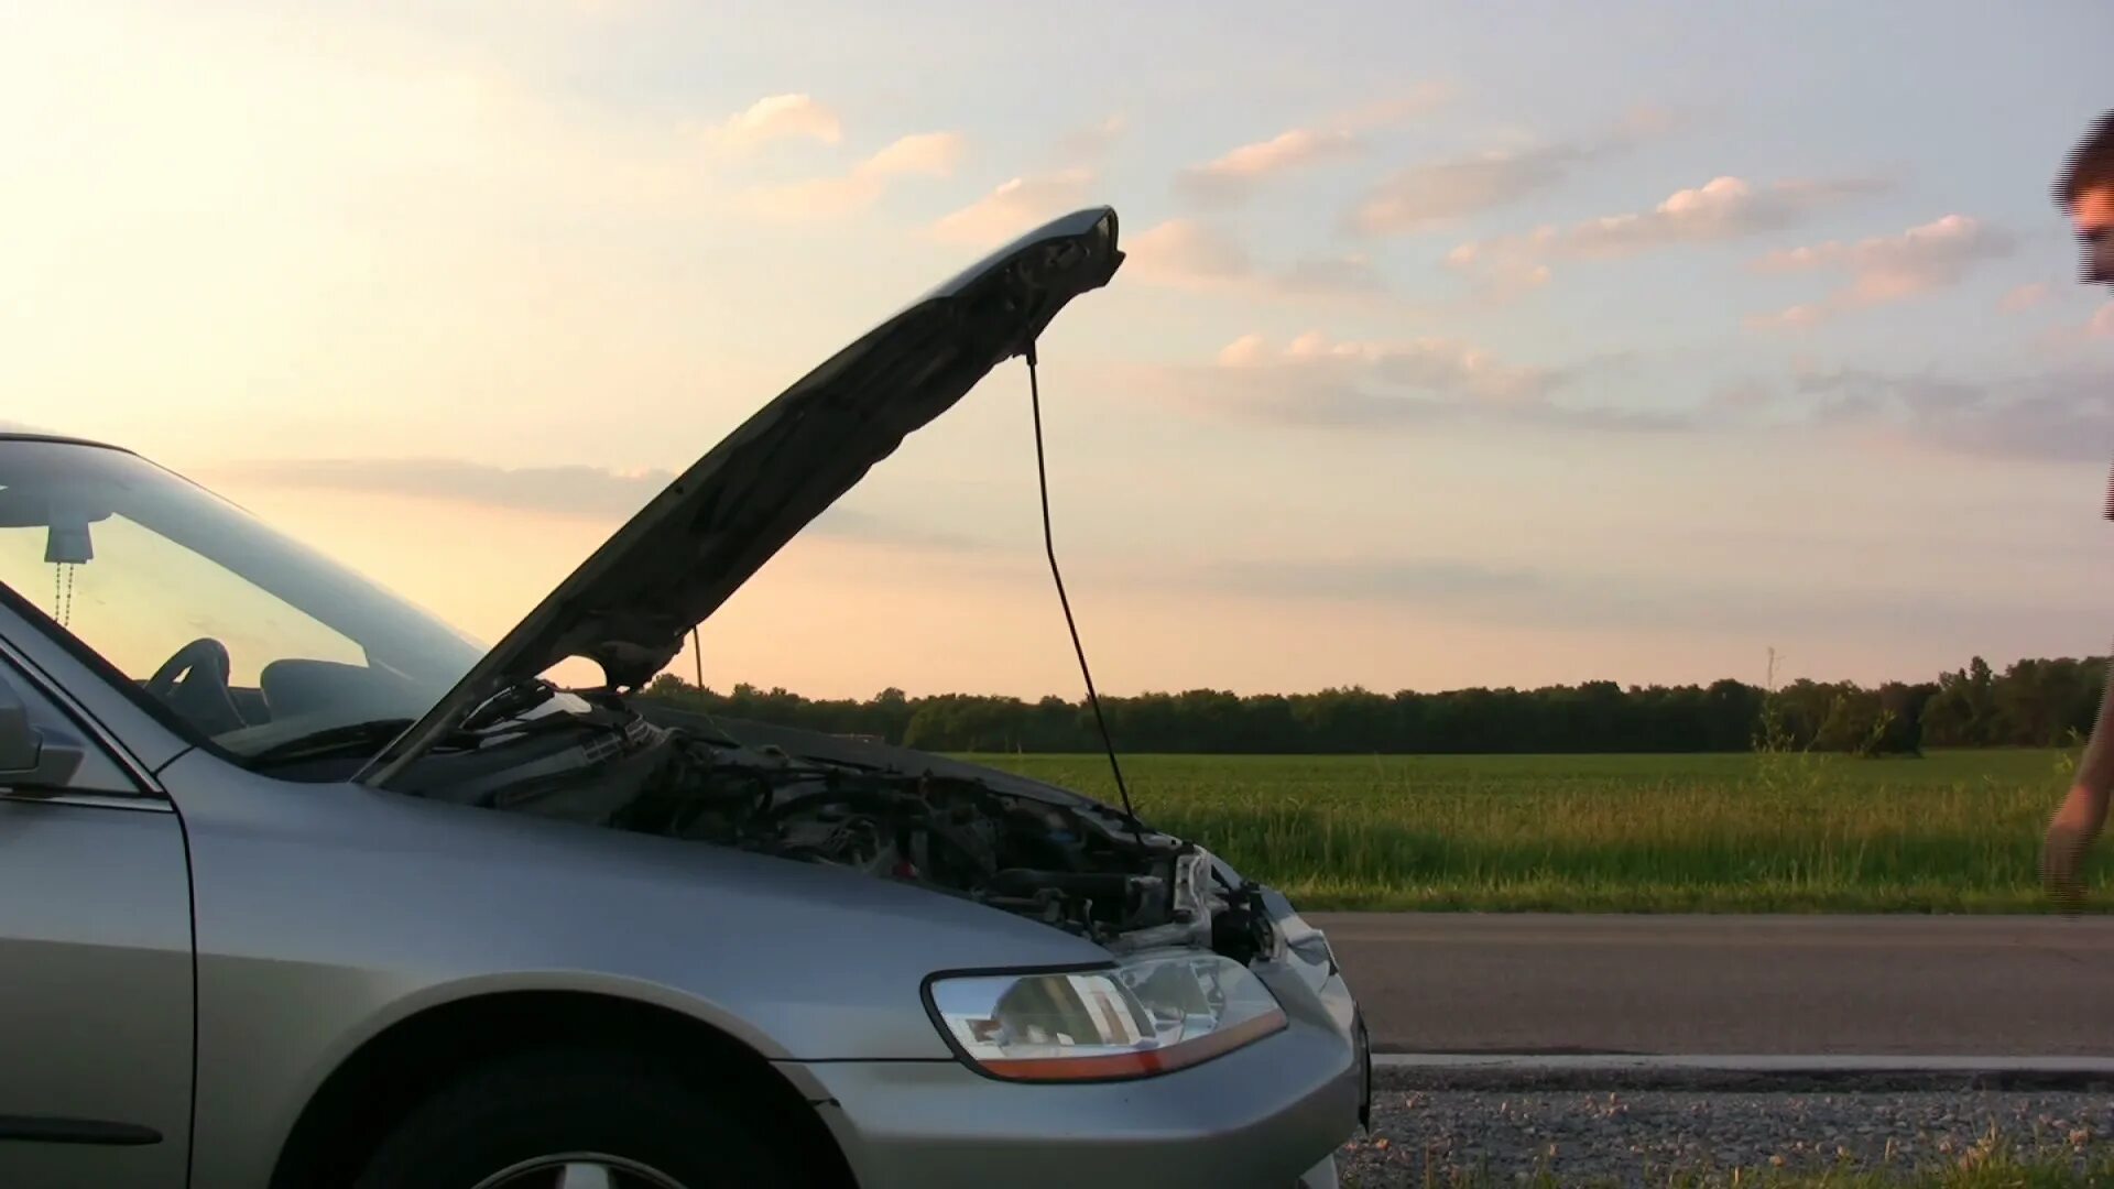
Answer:
[[[1279,893],[641,698],[1120,260],[1087,209],[937,288],[490,650],[133,453],[0,438],[0,1185],[1332,1185],[1366,1032]]]

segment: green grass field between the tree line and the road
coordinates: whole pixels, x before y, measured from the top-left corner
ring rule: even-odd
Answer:
[[[972,760],[1114,802],[1106,757]],[[1125,779],[1150,823],[1313,910],[2046,912],[2070,762],[1135,755]],[[2103,910],[2108,861],[2089,876]]]

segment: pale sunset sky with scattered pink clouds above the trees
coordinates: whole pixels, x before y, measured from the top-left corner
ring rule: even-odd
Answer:
[[[1104,692],[2101,654],[2114,6],[78,0],[0,15],[0,419],[499,639],[1046,218]],[[1078,696],[1015,360],[702,628],[708,683]],[[689,675],[685,654],[676,671]]]

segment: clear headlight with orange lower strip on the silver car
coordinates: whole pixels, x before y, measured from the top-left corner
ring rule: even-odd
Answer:
[[[1010,1081],[1152,1077],[1285,1026],[1271,988],[1218,954],[939,975],[928,980],[926,1001],[962,1060]]]

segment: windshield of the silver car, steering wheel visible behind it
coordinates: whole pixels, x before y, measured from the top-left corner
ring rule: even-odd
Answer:
[[[484,647],[137,455],[0,440],[0,584],[235,753],[414,719]]]

